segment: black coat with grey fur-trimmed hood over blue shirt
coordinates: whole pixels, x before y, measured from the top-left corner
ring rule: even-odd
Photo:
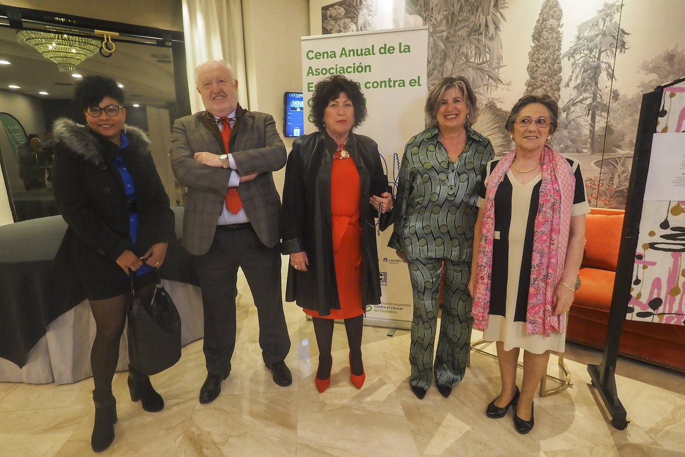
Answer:
[[[69,119],[55,121],[52,186],[69,227],[55,264],[82,277],[105,279],[125,273],[116,259],[126,249],[142,256],[155,243],[176,239],[175,218],[142,130],[127,125],[129,145],[109,140]],[[136,188],[138,240],[129,237],[129,203],[112,160],[121,151]]]

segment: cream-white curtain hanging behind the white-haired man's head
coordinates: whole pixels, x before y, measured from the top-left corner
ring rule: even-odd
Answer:
[[[182,0],[186,72],[192,112],[204,110],[195,87],[195,68],[208,60],[225,60],[238,79],[238,101],[249,108],[240,0]]]

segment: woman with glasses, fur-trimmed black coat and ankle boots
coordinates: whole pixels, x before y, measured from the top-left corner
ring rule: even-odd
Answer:
[[[114,440],[116,400],[112,377],[129,306],[128,275],[136,295],[151,299],[166,248],[175,240],[174,214],[155,169],[147,136],[125,125],[124,93],[113,79],[84,77],[74,91],[87,125],[58,119],[53,127],[53,191],[69,227],[55,257],[57,267],[83,282],[97,333],[90,352],[95,425],[92,449]],[[129,367],[133,401],[147,411],[164,408],[149,377]]]

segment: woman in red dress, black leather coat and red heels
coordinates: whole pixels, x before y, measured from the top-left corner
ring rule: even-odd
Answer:
[[[375,217],[390,224],[393,197],[378,147],[352,129],[366,118],[355,82],[335,75],[316,84],[312,117],[319,132],[292,145],[283,190],[283,254],[290,254],[286,301],[312,316],[319,392],[330,383],[334,319],[345,320],[350,380],[361,388],[366,305],[380,303]],[[375,189],[378,188],[378,189]],[[375,194],[375,195],[374,195]],[[386,214],[388,213],[388,214]]]

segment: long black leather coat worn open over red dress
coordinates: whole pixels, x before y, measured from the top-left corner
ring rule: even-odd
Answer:
[[[292,145],[283,189],[283,254],[305,251],[308,271],[288,267],[286,301],[327,316],[340,309],[333,254],[331,172],[338,145],[325,132],[300,136]],[[362,308],[380,303],[376,211],[369,204],[371,177],[384,177],[378,147],[368,136],[349,134],[345,149],[357,166],[361,186]],[[387,180],[387,178],[385,178]],[[381,217],[384,230],[392,212]]]

